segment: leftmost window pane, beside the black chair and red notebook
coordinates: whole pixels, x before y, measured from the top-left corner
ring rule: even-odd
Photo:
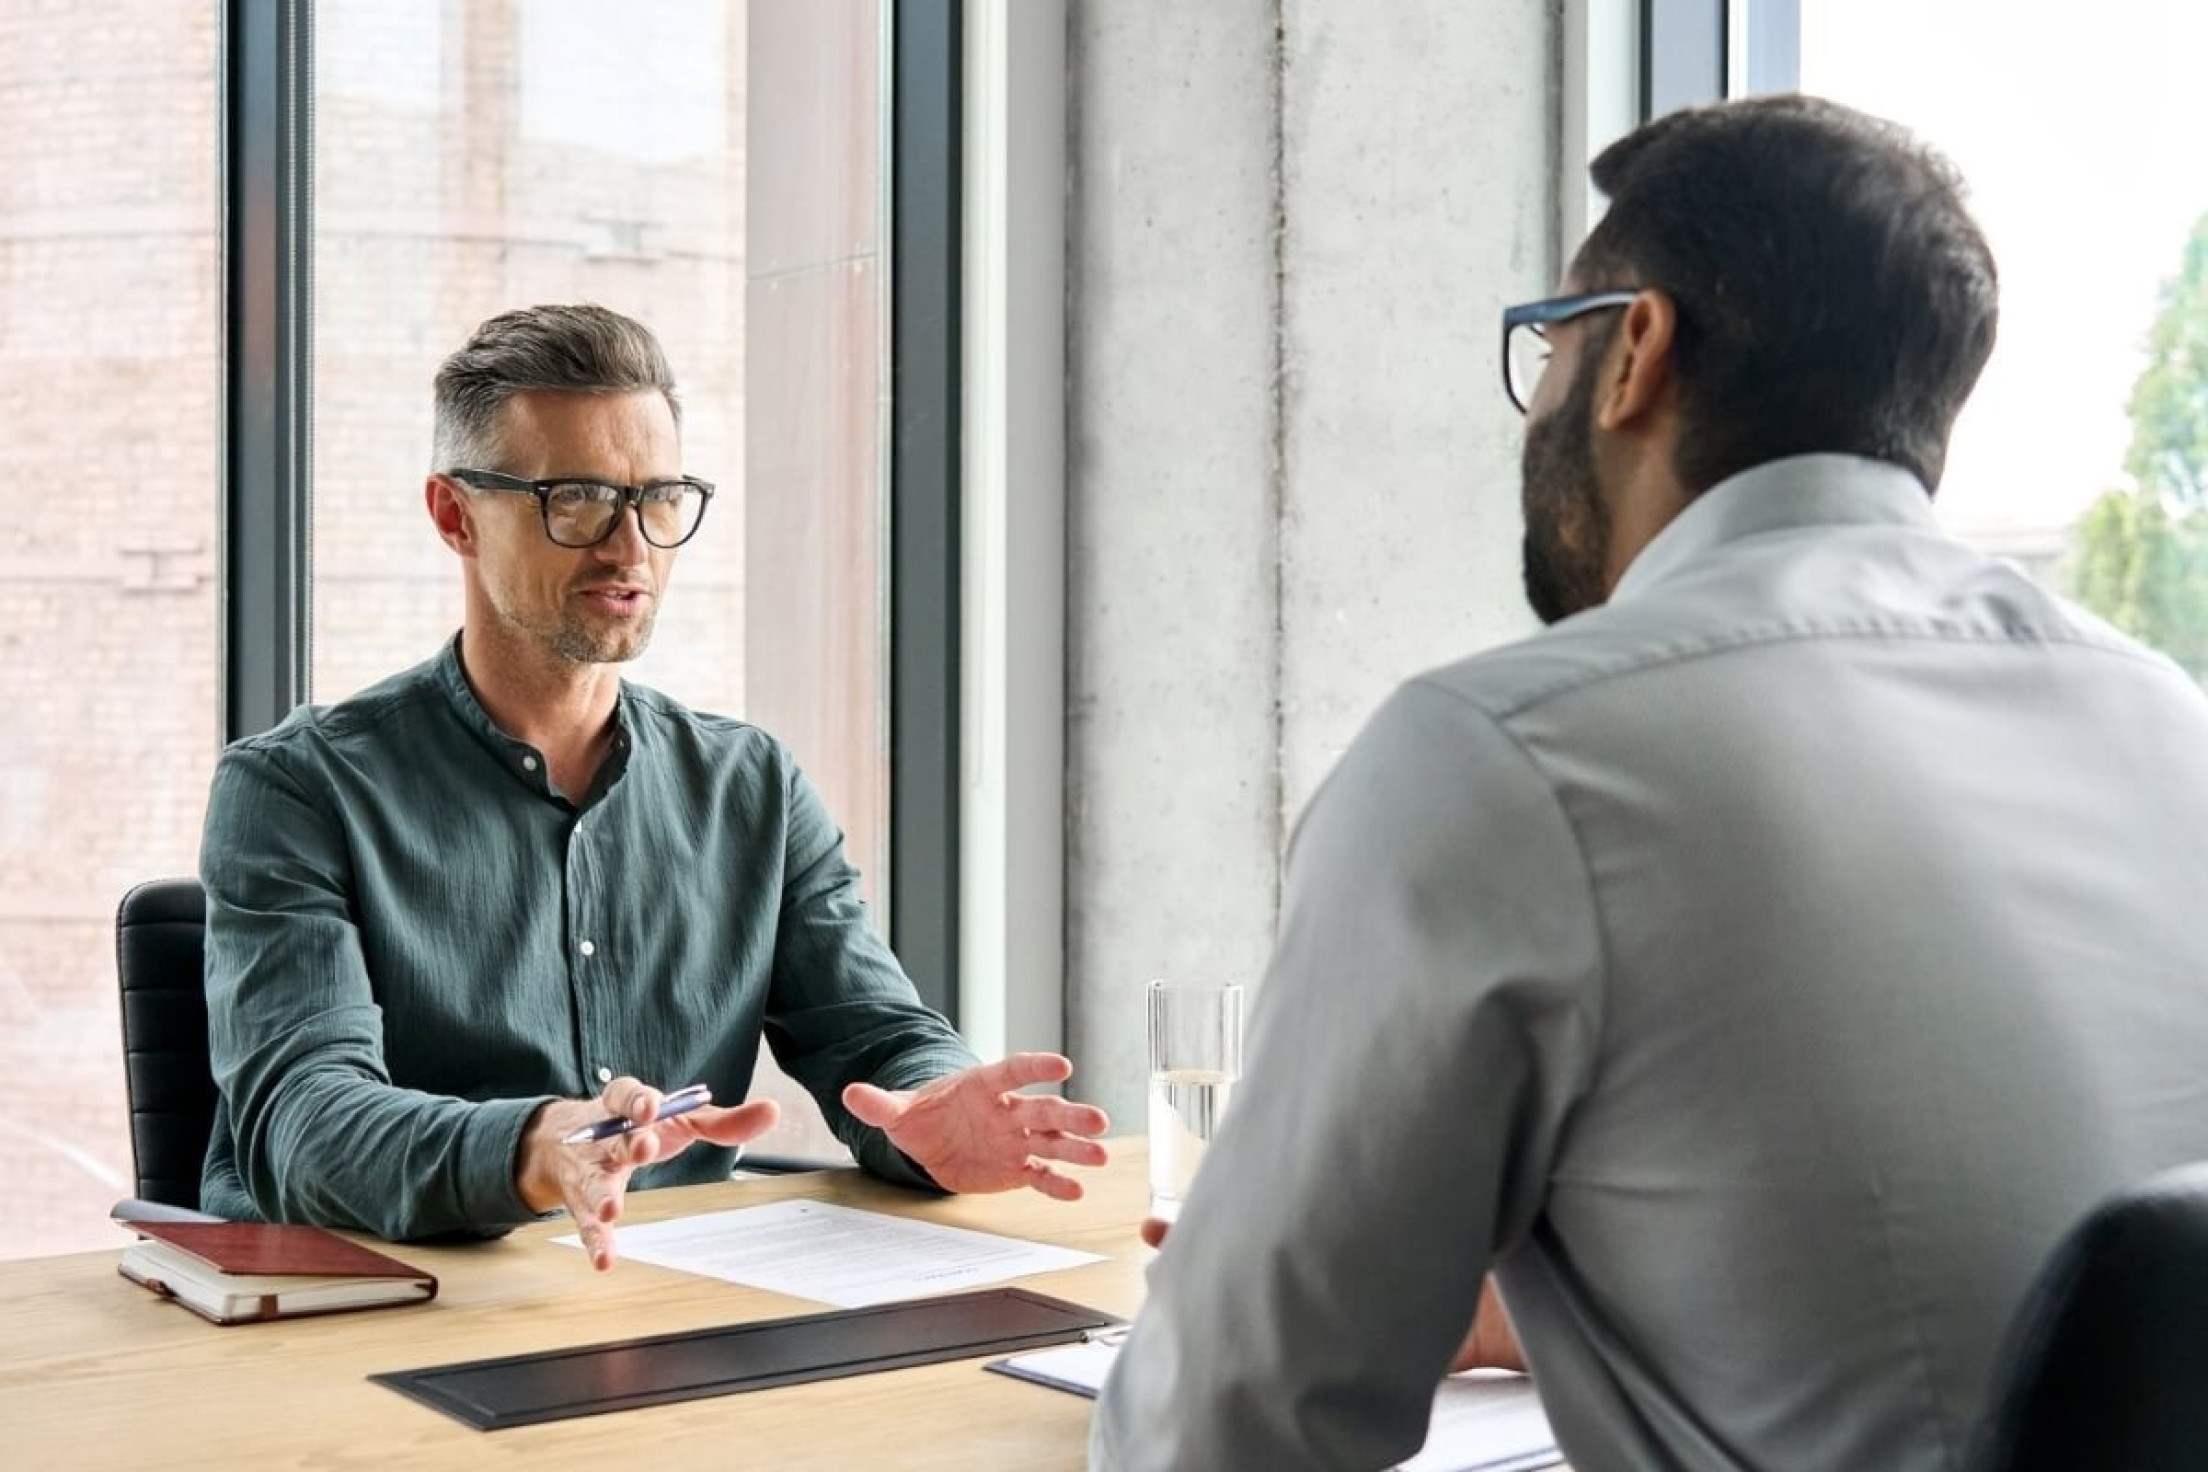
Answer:
[[[115,1245],[115,907],[221,744],[212,0],[0,7],[0,1256]]]

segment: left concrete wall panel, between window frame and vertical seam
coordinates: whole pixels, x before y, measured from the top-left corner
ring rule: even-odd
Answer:
[[[1066,66],[1066,1042],[1142,1128],[1142,986],[1256,980],[1278,870],[1272,0],[1089,0]]]

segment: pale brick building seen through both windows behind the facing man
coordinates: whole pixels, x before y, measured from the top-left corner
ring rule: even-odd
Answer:
[[[428,658],[457,627],[457,565],[422,510],[439,358],[495,311],[605,302],[665,340],[684,463],[720,486],[627,673],[788,739],[872,874],[879,7],[839,0],[764,31],[746,9],[320,7],[314,700]],[[793,216],[839,216],[846,236],[863,218],[863,238],[746,252],[753,31],[839,93],[821,108],[808,88],[793,128],[826,117],[861,163],[775,163],[773,188],[797,179]],[[22,499],[0,550],[0,1077],[46,1121],[18,1137],[29,1209],[9,1214],[0,1256],[113,1238],[104,1212],[130,1187],[115,903],[194,870],[221,742],[219,106],[212,0],[0,9],[0,470]],[[810,157],[837,163],[837,139]],[[751,311],[773,340],[746,338]],[[806,402],[828,408],[777,410],[753,444],[760,362],[824,371],[832,391]],[[793,382],[817,391],[821,373]],[[760,466],[764,519],[746,499]],[[793,594],[793,576],[813,583]],[[746,689],[762,640],[768,664],[806,655],[782,678],[804,689]],[[768,1073],[762,1088],[793,1101]],[[779,1148],[824,1143],[802,1112]]]

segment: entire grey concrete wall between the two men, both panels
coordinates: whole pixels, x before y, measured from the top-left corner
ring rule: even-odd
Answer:
[[[1557,276],[1557,0],[1073,0],[1066,1037],[1256,982],[1294,817],[1406,675],[1530,631],[1497,316]]]

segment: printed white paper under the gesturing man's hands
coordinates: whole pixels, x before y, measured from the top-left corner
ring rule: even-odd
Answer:
[[[581,1247],[572,1231],[552,1240]],[[938,1227],[826,1201],[777,1201],[768,1207],[623,1227],[616,1249],[631,1262],[813,1298],[837,1309],[956,1293],[1104,1260],[1093,1251]]]

